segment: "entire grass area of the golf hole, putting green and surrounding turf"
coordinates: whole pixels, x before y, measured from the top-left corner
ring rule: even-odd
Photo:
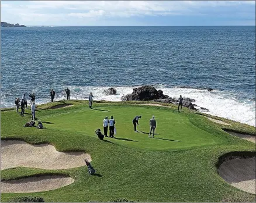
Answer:
[[[70,104],[70,107],[50,109]],[[113,202],[120,200],[118,198],[140,202],[220,202],[227,200],[226,197],[238,197],[229,199],[230,202],[255,202],[255,195],[227,184],[216,168],[223,154],[255,151],[254,143],[231,136],[222,127],[250,134],[255,134],[255,127],[231,120],[231,126],[222,126],[187,108],[178,112],[177,106],[138,104],[95,102],[95,109],[89,109],[87,101],[40,105],[36,117],[43,123],[41,130],[23,127],[31,119],[30,110],[26,110],[24,117],[15,109],[1,111],[1,139],[49,143],[62,152],[82,151],[91,156],[96,170],[95,176],[88,174],[87,166],[61,170],[29,167],[1,170],[1,180],[39,174],[64,174],[75,180],[57,190],[1,193],[1,201],[32,195],[43,197],[46,202]],[[94,130],[103,131],[103,119],[112,115],[116,120],[116,138],[101,141]],[[139,115],[142,116],[141,132],[136,133],[132,120]],[[148,138],[149,120],[153,115],[157,120],[157,134],[155,138]]]

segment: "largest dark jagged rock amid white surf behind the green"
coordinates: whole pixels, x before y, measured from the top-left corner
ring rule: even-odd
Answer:
[[[162,94],[162,90],[157,90],[153,86],[134,88],[132,94],[121,97],[122,101],[152,101],[165,98],[169,98],[168,95]]]

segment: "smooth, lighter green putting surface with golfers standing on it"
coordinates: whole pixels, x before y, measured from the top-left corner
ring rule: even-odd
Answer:
[[[137,113],[137,114],[136,114]],[[57,115],[41,117],[47,129],[82,133],[96,137],[96,129],[103,133],[103,119],[105,116],[114,116],[117,134],[115,138],[105,138],[112,143],[127,145],[129,147],[166,150],[187,148],[220,143],[220,138],[199,129],[193,125],[182,112],[168,109],[140,108],[140,107],[110,107],[89,109],[84,108]],[[134,132],[132,120],[141,115],[139,126]],[[157,129],[154,138],[149,138],[149,120],[155,116]],[[47,124],[48,123],[48,124]],[[109,130],[108,130],[109,136]]]

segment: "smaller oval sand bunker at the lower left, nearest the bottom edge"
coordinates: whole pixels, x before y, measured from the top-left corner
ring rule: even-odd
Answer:
[[[1,193],[36,193],[55,190],[74,183],[67,176],[32,176],[18,180],[1,181]]]

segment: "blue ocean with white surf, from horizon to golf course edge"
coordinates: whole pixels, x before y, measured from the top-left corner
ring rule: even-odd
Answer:
[[[67,87],[71,99],[120,101],[144,84],[255,126],[255,26],[1,27],[1,108]]]

